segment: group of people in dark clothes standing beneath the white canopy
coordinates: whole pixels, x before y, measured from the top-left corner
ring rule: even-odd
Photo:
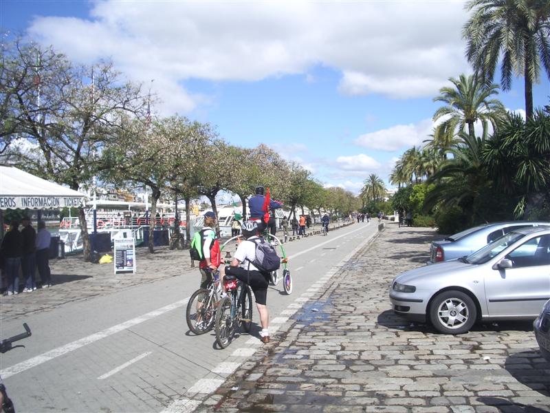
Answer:
[[[23,229],[19,231],[19,226]],[[10,222],[0,246],[0,268],[2,268],[1,287],[4,295],[19,294],[19,270],[25,286],[23,293],[36,290],[36,270],[38,269],[42,288],[52,286],[50,273],[51,234],[45,222],[39,221],[38,232],[33,228],[30,218],[24,216]]]

